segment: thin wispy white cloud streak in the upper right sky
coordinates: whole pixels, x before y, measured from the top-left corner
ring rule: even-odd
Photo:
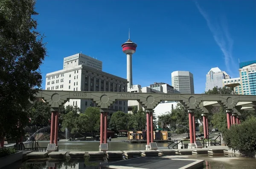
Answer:
[[[213,24],[208,14],[206,13],[206,11],[204,11],[204,9],[201,8],[198,2],[195,2],[195,5],[198,8],[201,15],[206,20],[207,26],[212,32],[215,42],[217,43],[222,53],[224,54],[224,60],[225,60],[227,71],[232,74],[232,71],[230,70],[230,65],[234,66],[234,61],[232,56],[233,40],[230,37],[229,31],[228,31],[226,18],[223,16],[221,17],[220,23]]]

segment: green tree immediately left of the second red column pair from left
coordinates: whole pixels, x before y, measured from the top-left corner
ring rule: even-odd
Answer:
[[[98,107],[87,107],[84,112],[84,115],[87,117],[87,122],[84,125],[87,125],[87,132],[93,133],[99,132],[100,128],[100,112]]]

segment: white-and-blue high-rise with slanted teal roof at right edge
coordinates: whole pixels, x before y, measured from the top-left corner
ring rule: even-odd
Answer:
[[[256,95],[256,60],[239,63],[243,95]]]

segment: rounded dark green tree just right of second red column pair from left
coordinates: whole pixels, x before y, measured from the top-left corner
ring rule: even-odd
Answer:
[[[115,131],[116,133],[119,130],[126,130],[127,129],[127,116],[122,111],[114,112],[111,116],[110,120],[111,130]]]

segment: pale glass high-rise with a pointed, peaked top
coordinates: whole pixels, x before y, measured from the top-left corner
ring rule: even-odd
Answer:
[[[222,87],[223,79],[230,79],[230,75],[218,67],[212,68],[206,75],[205,91],[212,90],[214,87]]]

